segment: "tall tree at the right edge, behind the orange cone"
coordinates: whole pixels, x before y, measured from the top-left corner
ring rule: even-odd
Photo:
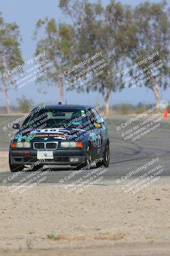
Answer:
[[[159,51],[159,57],[150,61],[161,59],[164,60],[164,67],[160,70],[158,76],[148,80],[145,86],[150,88],[154,95],[155,101],[159,106],[162,100],[162,92],[169,86],[169,42],[170,42],[170,20],[169,10],[166,1],[160,3],[145,3],[139,4],[133,13],[133,23],[136,26],[136,39],[135,45],[132,49],[131,59],[142,60],[146,52]],[[147,64],[141,65],[145,68]],[[136,70],[135,70],[136,71]]]

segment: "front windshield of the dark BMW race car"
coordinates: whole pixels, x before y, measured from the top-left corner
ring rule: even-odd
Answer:
[[[21,128],[81,127],[85,122],[85,117],[83,109],[41,109],[38,113],[34,113],[33,110]]]

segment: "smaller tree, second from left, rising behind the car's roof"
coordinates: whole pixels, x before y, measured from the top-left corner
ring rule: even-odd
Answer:
[[[46,52],[45,58],[50,61],[52,65],[46,68],[46,76],[37,80],[38,83],[44,81],[48,85],[57,86],[60,90],[60,99],[64,103],[64,77],[60,77],[60,70],[69,64],[72,52],[74,52],[74,29],[73,26],[66,23],[56,24],[55,19],[46,18],[45,20],[38,20],[35,30],[35,38],[40,38],[36,47],[36,55],[39,52]],[[40,58],[39,62],[44,58]]]

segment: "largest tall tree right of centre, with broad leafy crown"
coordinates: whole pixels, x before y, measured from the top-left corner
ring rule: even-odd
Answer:
[[[104,8],[101,2],[89,3],[85,1],[64,1],[60,0],[60,8],[67,13],[73,21],[76,42],[76,58],[94,51],[103,51],[108,66],[106,76],[99,76],[96,83],[81,86],[87,92],[97,91],[103,95],[106,103],[106,112],[109,112],[110,97],[112,92],[123,88],[120,79],[117,77],[118,67],[124,64],[124,60],[129,51],[127,36],[132,28],[132,15],[129,6],[123,6],[111,0],[110,4]],[[80,90],[78,89],[78,92]]]

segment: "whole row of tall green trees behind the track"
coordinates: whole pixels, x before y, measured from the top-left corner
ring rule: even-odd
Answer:
[[[60,0],[60,10],[69,17],[69,24],[55,19],[39,19],[34,40],[37,41],[35,55],[46,52],[52,63],[46,69],[46,76],[39,77],[37,83],[46,81],[56,86],[60,92],[60,100],[65,101],[64,77],[59,76],[60,70],[76,60],[88,58],[91,52],[103,51],[107,60],[105,76],[98,81],[85,83],[84,86],[67,88],[77,92],[99,92],[110,108],[110,99],[114,92],[124,90],[125,86],[118,70],[131,63],[142,60],[148,51],[158,51],[164,60],[164,67],[159,76],[145,81],[147,88],[153,91],[157,104],[162,100],[162,92],[169,87],[169,42],[170,42],[170,8],[166,1],[160,3],[138,4],[135,8],[110,0],[107,6],[101,1],[90,3],[89,0]],[[1,86],[6,97],[6,109],[10,113],[8,96],[8,77],[6,70],[22,63],[20,50],[21,36],[15,22],[6,23],[0,15],[0,73]],[[42,59],[39,58],[39,62]],[[152,60],[152,62],[155,59]],[[144,65],[145,66],[145,65]],[[143,71],[145,73],[145,71]],[[130,74],[133,74],[131,71]]]

